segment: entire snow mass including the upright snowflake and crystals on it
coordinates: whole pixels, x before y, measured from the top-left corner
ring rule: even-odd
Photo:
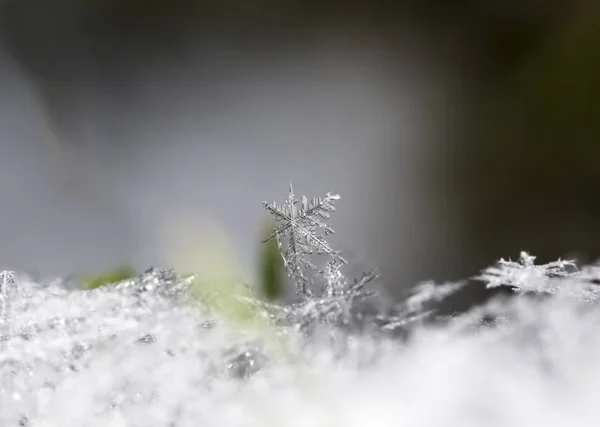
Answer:
[[[599,266],[522,253],[367,304],[376,274],[346,278],[316,231],[334,200],[269,205],[304,298],[228,295],[251,313],[242,323],[174,271],[94,290],[1,272],[0,426],[598,425]],[[322,272],[306,268],[319,250]],[[514,292],[435,315],[469,286]]]

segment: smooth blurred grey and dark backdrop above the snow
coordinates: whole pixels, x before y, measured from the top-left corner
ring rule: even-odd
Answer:
[[[394,296],[593,261],[599,96],[593,0],[3,0],[0,265],[164,266],[217,234],[253,282],[289,182],[340,193],[335,245]]]

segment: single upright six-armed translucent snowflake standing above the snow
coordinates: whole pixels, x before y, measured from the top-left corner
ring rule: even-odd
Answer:
[[[319,255],[326,254],[334,262],[346,264],[340,252],[332,249],[325,241],[326,235],[334,233],[325,220],[329,219],[329,212],[335,211],[334,203],[339,198],[338,194],[327,193],[325,197],[315,197],[309,202],[306,196],[302,196],[301,206],[298,207],[298,200],[290,184],[290,193],[284,205],[263,202],[276,221],[282,223],[264,242],[276,238],[288,276],[296,282],[296,291],[303,297],[313,294],[313,281],[303,270],[316,269],[310,260],[315,249]],[[282,248],[282,236],[287,241],[285,249]]]

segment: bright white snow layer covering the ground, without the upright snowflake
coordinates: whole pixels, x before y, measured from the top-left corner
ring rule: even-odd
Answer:
[[[586,271],[536,280],[569,286]],[[2,426],[24,413],[44,427],[547,427],[600,416],[600,308],[570,294],[492,300],[407,342],[348,338],[342,357],[324,343],[300,350],[289,330],[267,339],[272,363],[248,379],[226,374],[225,350],[264,331],[200,327],[212,317],[179,297],[24,280],[3,296],[2,333],[29,335],[0,342]],[[482,325],[485,314],[496,325]],[[136,343],[147,334],[155,342]],[[274,352],[278,340],[286,351]]]

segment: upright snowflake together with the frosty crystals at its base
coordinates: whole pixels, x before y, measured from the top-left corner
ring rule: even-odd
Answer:
[[[375,325],[377,317],[376,311],[368,312],[368,304],[364,302],[376,294],[368,285],[378,277],[378,273],[370,271],[349,282],[341,271],[347,261],[340,251],[332,249],[325,241],[325,235],[334,231],[324,220],[329,218],[330,211],[335,210],[334,202],[339,198],[337,194],[327,193],[324,198],[314,198],[309,202],[302,196],[302,204],[297,207],[298,201],[290,184],[285,205],[263,202],[281,223],[265,242],[277,239],[288,275],[296,282],[297,292],[304,297],[300,302],[285,307],[271,305],[267,311],[272,313],[278,324],[293,326],[308,335],[321,324],[327,328],[364,330]],[[317,228],[323,231],[318,232]],[[287,241],[285,248],[281,236]],[[310,276],[303,270],[316,270],[310,259],[314,252],[324,254],[328,261],[323,270]],[[315,285],[321,286],[320,295],[315,295]]]

